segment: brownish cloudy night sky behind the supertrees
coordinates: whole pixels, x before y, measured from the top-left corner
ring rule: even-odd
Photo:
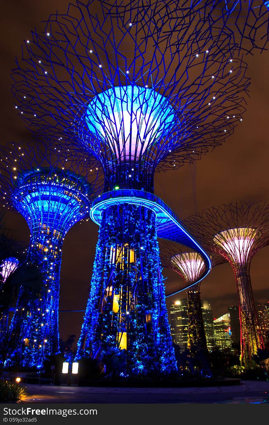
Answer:
[[[10,91],[11,68],[15,67],[15,56],[20,57],[23,40],[31,37],[30,31],[43,31],[40,23],[57,10],[65,13],[66,0],[33,2],[12,0],[2,3],[2,25],[0,28],[1,48],[1,145],[7,141],[29,140],[30,133],[14,109]],[[156,175],[155,193],[159,195],[183,219],[186,215],[204,208],[234,201],[269,202],[269,51],[254,56],[247,55],[252,83],[247,112],[243,121],[226,143],[207,153],[195,165],[185,165]],[[196,198],[195,198],[196,193]],[[23,217],[8,213],[6,226],[18,239],[29,241],[29,229]],[[86,306],[90,278],[95,254],[98,226],[85,222],[76,224],[66,235],[63,244],[61,268],[61,309],[83,309]],[[269,300],[268,261],[269,246],[261,249],[251,264],[251,279],[254,297],[261,303]],[[166,285],[175,286],[179,279],[176,273],[164,269]],[[167,298],[186,297],[182,292]],[[226,263],[215,267],[201,284],[201,297],[208,300],[214,317],[227,312],[229,305],[237,304],[235,278],[231,266]],[[79,337],[83,313],[60,313],[60,337],[68,334]]]

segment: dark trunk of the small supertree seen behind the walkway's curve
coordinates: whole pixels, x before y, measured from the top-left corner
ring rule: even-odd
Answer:
[[[187,292],[188,308],[188,348],[193,356],[199,351],[207,351],[207,339],[201,306],[200,284]]]

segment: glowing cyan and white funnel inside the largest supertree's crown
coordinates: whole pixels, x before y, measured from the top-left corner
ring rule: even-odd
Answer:
[[[87,108],[90,133],[104,140],[117,159],[131,161],[165,139],[175,120],[166,97],[136,85],[110,88],[93,97]]]

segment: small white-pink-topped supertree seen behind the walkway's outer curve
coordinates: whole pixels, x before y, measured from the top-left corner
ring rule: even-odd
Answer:
[[[203,258],[200,254],[198,254],[198,252],[184,252],[182,246],[169,241],[161,241],[160,252],[162,265],[174,270],[181,276],[181,278],[184,279],[184,283],[167,289],[166,297],[175,295],[176,293],[188,288],[188,348],[190,353],[195,355],[201,352],[201,350],[206,351],[207,340],[201,307],[201,281],[199,280],[204,271]],[[210,258],[212,266],[216,266],[225,261],[220,255],[215,253],[212,253]]]

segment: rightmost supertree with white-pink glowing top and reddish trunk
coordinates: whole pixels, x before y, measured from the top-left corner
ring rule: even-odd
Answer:
[[[262,202],[221,205],[189,216],[184,224],[207,249],[232,266],[239,302],[241,363],[249,367],[257,348],[263,348],[249,268],[252,257],[269,241],[269,206]]]

